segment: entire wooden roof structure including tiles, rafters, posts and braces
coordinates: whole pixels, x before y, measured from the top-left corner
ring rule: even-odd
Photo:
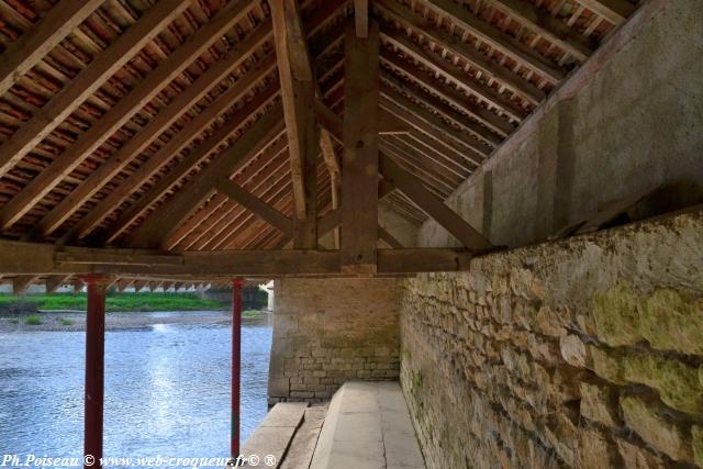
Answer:
[[[458,266],[491,246],[442,201],[637,7],[0,0],[0,275],[22,289],[82,272],[70,265],[118,275],[288,252],[268,259],[280,265],[303,249],[342,273]],[[413,223],[436,219],[466,253],[383,267],[402,246],[377,226],[380,199]],[[341,250],[321,260],[333,231]],[[33,246],[53,249],[51,269],[12,264]]]

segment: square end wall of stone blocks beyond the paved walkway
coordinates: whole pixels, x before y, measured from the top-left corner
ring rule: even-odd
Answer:
[[[394,279],[282,279],[274,287],[269,403],[322,401],[349,380],[399,376]]]

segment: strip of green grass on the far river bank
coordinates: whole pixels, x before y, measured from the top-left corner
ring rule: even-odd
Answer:
[[[85,310],[85,293],[27,294],[15,297],[0,293],[0,310]],[[24,308],[22,308],[24,306]],[[213,311],[227,306],[220,301],[203,300],[192,293],[115,293],[108,294],[108,312],[127,311]]]

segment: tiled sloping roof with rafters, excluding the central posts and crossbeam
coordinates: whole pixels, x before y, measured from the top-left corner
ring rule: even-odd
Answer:
[[[355,2],[299,3],[323,101],[342,115],[343,35]],[[446,199],[636,7],[371,1],[380,104],[400,129],[382,135],[381,148]],[[134,244],[150,217],[280,109],[266,1],[0,0],[0,20],[5,238]],[[232,176],[292,216],[286,133],[275,131]],[[332,199],[323,158],[317,179],[324,214]],[[402,193],[388,198],[414,223],[426,219]],[[267,249],[287,241],[213,192],[165,246]]]

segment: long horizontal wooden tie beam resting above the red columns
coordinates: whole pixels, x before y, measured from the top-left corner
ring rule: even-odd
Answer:
[[[60,248],[52,244],[0,241],[2,273],[9,276],[103,273],[150,281],[215,276],[344,276],[338,250],[217,250],[164,254],[142,252],[125,261],[121,249]],[[466,270],[467,249],[378,249],[378,273]],[[143,287],[145,283],[138,283]],[[141,287],[140,287],[141,288]]]

